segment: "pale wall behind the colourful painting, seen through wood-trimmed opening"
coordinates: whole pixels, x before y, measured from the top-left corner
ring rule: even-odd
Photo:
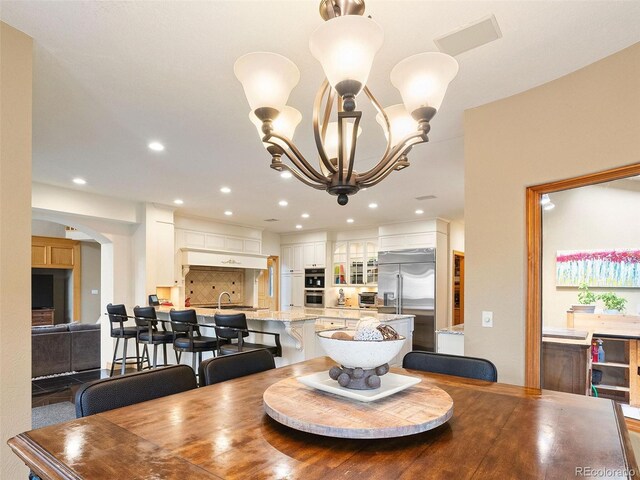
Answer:
[[[622,188],[621,188],[622,187]],[[625,188],[626,187],[626,188]],[[577,287],[556,287],[558,250],[638,249],[640,181],[617,180],[551,195],[553,210],[542,214],[542,321],[566,327],[567,309],[578,303]],[[595,288],[627,299],[627,314],[640,312],[640,288]],[[598,303],[598,308],[603,305]]]

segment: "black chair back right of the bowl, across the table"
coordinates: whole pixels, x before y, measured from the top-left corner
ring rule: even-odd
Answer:
[[[404,356],[402,367],[489,382],[498,381],[496,366],[484,358],[415,351]]]

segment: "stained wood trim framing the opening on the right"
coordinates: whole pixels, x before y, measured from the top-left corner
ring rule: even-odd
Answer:
[[[602,172],[558,180],[527,187],[527,298],[525,319],[525,386],[540,388],[540,360],[542,349],[542,209],[540,199],[545,193],[640,175],[640,164],[626,165]]]

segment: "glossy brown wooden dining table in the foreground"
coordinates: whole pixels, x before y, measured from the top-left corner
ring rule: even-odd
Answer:
[[[265,414],[263,393],[269,386],[333,364],[316,358],[32,430],[8,443],[42,479],[486,480],[638,474],[621,409],[605,399],[392,368],[447,392],[453,416],[427,432],[369,440],[305,433]]]

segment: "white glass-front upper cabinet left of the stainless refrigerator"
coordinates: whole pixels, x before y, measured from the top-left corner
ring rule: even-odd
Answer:
[[[333,250],[334,285],[378,283],[378,247],[374,241],[337,242]]]

